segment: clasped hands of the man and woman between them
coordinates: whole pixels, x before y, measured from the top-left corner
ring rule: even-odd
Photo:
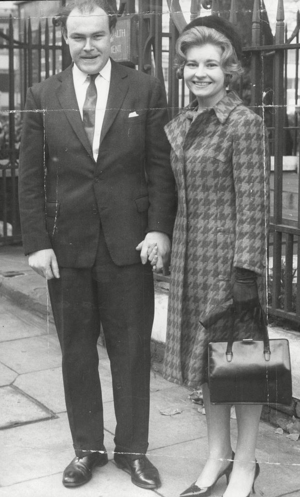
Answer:
[[[150,231],[136,249],[141,250],[143,264],[149,260],[153,271],[157,273],[162,271],[163,274],[167,272],[171,252],[168,235],[159,231]]]

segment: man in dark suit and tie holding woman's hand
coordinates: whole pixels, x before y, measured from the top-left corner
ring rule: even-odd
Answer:
[[[101,320],[117,420],[114,459],[134,484],[153,489],[160,481],[145,456],[154,309],[147,259],[155,256],[158,271],[168,261],[174,180],[164,93],[156,79],[109,58],[115,24],[106,0],[71,2],[62,15],[74,64],[28,89],[20,213],[24,250],[48,280],[62,348],[75,448],[63,483],[82,485],[107,462]]]

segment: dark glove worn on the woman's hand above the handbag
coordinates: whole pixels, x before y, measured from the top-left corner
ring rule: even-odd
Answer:
[[[245,314],[259,306],[256,273],[240,267],[235,268],[232,294],[237,314]]]

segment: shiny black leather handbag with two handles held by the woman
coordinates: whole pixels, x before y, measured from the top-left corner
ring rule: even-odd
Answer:
[[[262,340],[209,343],[209,388],[212,404],[292,403],[292,375],[289,340],[269,339],[260,314],[257,326]]]

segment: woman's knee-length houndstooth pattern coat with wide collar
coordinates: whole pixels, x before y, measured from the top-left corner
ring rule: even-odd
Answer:
[[[163,375],[196,388],[207,381],[209,341],[225,340],[228,313],[199,319],[232,298],[234,267],[255,271],[266,304],[269,161],[263,120],[233,91],[202,113],[184,109],[165,126],[178,187]],[[252,321],[235,339],[257,338]]]

